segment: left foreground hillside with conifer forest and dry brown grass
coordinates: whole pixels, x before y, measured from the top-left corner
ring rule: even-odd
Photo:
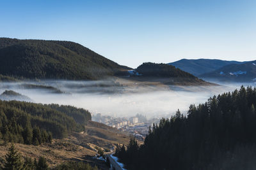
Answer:
[[[72,160],[107,169],[93,159],[98,148],[108,152],[127,144],[129,136],[91,119],[90,112],[73,106],[0,100],[0,169],[10,143],[22,157],[45,157],[50,167]]]

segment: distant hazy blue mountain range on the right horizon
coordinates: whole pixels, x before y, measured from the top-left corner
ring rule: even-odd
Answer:
[[[256,81],[256,60],[182,59],[169,64],[208,81]]]

